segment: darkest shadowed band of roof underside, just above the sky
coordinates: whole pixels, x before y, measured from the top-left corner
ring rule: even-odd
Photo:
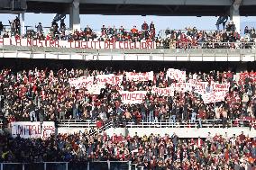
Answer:
[[[108,1],[105,1],[108,2]],[[229,12],[232,4],[93,4],[90,1],[87,4],[80,3],[80,14],[114,14],[114,15],[167,15],[167,16],[219,16]],[[256,15],[254,10],[256,1],[251,5],[242,5],[240,14]],[[69,3],[56,2],[27,2],[27,12],[29,13],[69,13]]]

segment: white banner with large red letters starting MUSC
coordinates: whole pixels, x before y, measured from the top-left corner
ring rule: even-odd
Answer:
[[[122,95],[122,103],[124,104],[142,103],[145,100],[145,96],[147,94],[146,91],[122,91],[119,93]]]

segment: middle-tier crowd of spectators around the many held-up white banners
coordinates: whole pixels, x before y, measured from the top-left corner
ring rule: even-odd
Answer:
[[[87,87],[76,89],[69,85],[69,78],[114,74],[123,75],[121,85],[106,84],[100,94],[89,94]],[[242,73],[241,73],[242,74]],[[255,72],[248,73],[251,77]],[[63,121],[70,119],[114,121],[116,126],[125,126],[127,122],[169,121],[190,123],[203,120],[215,120],[224,127],[231,120],[246,120],[246,126],[255,128],[256,94],[255,80],[246,77],[235,78],[233,72],[211,71],[209,73],[187,72],[186,79],[217,83],[230,83],[229,92],[224,102],[204,103],[201,95],[193,91],[174,93],[174,96],[161,96],[151,92],[152,86],[169,87],[177,80],[166,78],[166,71],[154,73],[153,81],[130,81],[125,71],[113,68],[100,70],[50,69],[0,71],[1,112],[12,121]],[[95,80],[96,81],[96,80]],[[96,82],[95,82],[96,83]],[[124,104],[118,90],[147,91],[148,94],[140,104]],[[233,122],[234,123],[234,122]],[[240,124],[237,123],[236,126]]]

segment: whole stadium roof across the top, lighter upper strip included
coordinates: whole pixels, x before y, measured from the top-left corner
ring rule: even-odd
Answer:
[[[72,0],[23,0],[28,13],[69,13]],[[80,14],[219,16],[241,2],[240,15],[256,15],[255,0],[80,0]]]

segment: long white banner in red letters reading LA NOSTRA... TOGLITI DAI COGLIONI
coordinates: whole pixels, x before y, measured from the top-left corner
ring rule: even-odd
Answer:
[[[14,45],[23,47],[54,47],[76,49],[156,49],[151,40],[132,41],[85,41],[85,40],[33,40],[33,39],[0,39],[0,46]]]

